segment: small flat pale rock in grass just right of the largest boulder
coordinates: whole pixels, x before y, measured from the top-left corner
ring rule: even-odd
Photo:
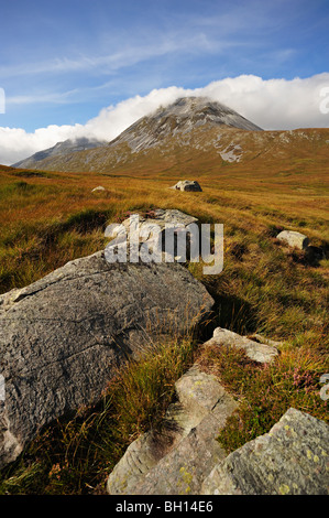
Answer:
[[[216,345],[219,347],[228,345],[241,348],[250,359],[261,364],[271,363],[278,355],[277,348],[273,345],[254,342],[223,327],[217,327],[213,331],[212,338],[206,342],[205,345]]]

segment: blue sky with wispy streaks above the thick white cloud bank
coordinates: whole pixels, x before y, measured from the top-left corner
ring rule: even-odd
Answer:
[[[85,123],[153,88],[329,63],[328,0],[2,0],[1,19],[0,126],[26,131]]]

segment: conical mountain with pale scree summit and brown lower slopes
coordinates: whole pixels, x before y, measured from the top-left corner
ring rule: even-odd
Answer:
[[[228,164],[249,164],[264,174],[279,161],[282,168],[311,171],[315,155],[320,166],[328,163],[328,141],[329,129],[263,131],[220,102],[184,97],[142,117],[109,143],[59,150],[36,165],[25,161],[24,166],[141,176],[173,172],[188,177]]]

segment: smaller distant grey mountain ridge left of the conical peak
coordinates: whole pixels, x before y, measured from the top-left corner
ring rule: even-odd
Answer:
[[[86,149],[98,148],[105,145],[107,142],[96,140],[96,139],[87,139],[86,137],[81,137],[79,139],[68,139],[64,142],[57,142],[53,148],[45,149],[43,151],[39,151],[37,153],[32,154],[28,159],[21,160],[12,164],[13,168],[24,168],[24,169],[34,169],[39,168],[40,162],[46,160],[48,158],[54,157],[65,157],[67,154],[76,153],[77,151],[85,151]]]

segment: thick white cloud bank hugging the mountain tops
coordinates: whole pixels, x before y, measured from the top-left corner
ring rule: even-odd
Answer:
[[[48,126],[33,133],[21,128],[0,127],[0,163],[14,163],[66,139],[95,137],[110,141],[160,105],[189,95],[218,100],[264,129],[329,127],[329,116],[320,111],[323,100],[320,91],[328,86],[329,73],[323,73],[292,80],[241,75],[196,89],[176,86],[154,89],[144,97],[135,96],[103,108],[85,126]]]

